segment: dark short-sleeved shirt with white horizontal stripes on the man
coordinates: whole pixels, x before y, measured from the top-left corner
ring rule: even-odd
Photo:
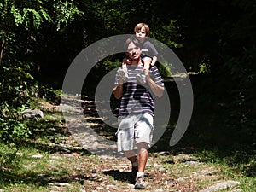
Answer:
[[[149,113],[154,116],[154,98],[150,93],[148,84],[139,84],[136,78],[137,73],[142,73],[143,64],[137,66],[127,65],[128,81],[123,84],[123,96],[119,109],[119,116],[128,114]],[[164,86],[157,67],[150,68],[150,76],[156,84]],[[119,75],[116,74],[114,84],[119,84]]]

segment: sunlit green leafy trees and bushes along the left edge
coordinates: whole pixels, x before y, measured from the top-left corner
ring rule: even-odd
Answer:
[[[50,9],[49,9],[50,8]],[[54,14],[52,14],[54,13]],[[19,143],[26,139],[30,130],[20,119],[20,106],[30,106],[32,96],[39,86],[34,74],[38,65],[31,61],[31,54],[40,34],[40,27],[47,22],[57,31],[75,20],[82,12],[74,5],[61,1],[12,1],[0,3],[0,138],[5,142]]]

